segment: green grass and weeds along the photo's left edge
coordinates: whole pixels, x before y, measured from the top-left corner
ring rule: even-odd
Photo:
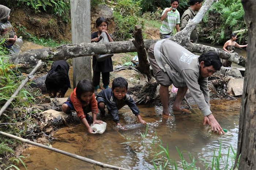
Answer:
[[[0,51],[5,51],[3,47],[0,46]],[[10,64],[8,63],[8,57],[0,56],[0,106],[3,107],[5,102],[11,97],[14,91],[20,85],[23,76],[19,70],[20,64]],[[28,88],[28,87],[27,87]],[[28,111],[23,110],[27,108],[30,103],[33,103],[35,97],[41,92],[35,92],[31,94],[26,88],[20,90],[18,96],[12,101],[8,109],[10,111],[5,111],[1,115],[0,119],[0,131],[5,131],[9,134],[16,136],[24,136],[31,128],[31,118]],[[19,107],[16,107],[19,106]],[[17,169],[16,165],[24,162],[22,159],[24,157],[15,155],[15,148],[18,146],[18,142],[14,139],[5,138],[5,136],[0,135],[0,169]],[[8,145],[7,145],[8,144]]]

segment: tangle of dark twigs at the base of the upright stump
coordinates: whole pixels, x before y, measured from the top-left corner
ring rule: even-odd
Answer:
[[[158,82],[148,82],[145,85],[137,85],[132,88],[129,88],[128,94],[136,96],[137,100],[135,100],[135,103],[153,103],[153,101],[155,101],[155,99],[158,98],[158,85]]]

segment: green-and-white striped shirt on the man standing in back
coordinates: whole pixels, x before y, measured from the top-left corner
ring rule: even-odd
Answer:
[[[168,8],[163,10],[162,15]],[[161,34],[169,34],[173,31],[173,28],[176,27],[177,24],[180,24],[180,12],[176,9],[175,12],[173,10],[167,12],[166,18],[163,20],[163,24],[160,28]]]

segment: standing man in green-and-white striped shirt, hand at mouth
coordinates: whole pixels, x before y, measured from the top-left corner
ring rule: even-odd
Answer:
[[[180,13],[177,8],[179,6],[179,0],[171,0],[171,7],[165,8],[161,15],[163,24],[160,28],[160,38],[166,38],[166,36],[173,35],[173,29],[176,28],[177,32],[180,31]]]

